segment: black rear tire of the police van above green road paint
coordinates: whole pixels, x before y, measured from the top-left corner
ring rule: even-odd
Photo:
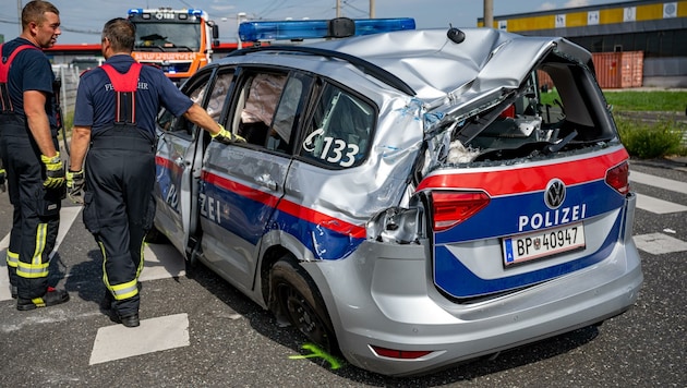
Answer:
[[[269,272],[273,313],[287,318],[309,340],[329,353],[338,345],[327,308],[308,272],[290,256],[282,257]],[[275,311],[276,308],[276,311]]]

